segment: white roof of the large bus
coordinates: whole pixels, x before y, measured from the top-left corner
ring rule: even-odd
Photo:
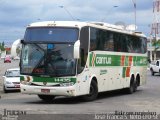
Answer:
[[[113,24],[103,23],[103,22],[80,22],[80,21],[43,21],[35,22],[28,25],[28,27],[77,27],[81,28],[84,26],[96,27],[100,29],[110,30],[114,32],[120,32],[135,36],[146,37],[142,32],[135,32],[131,30],[126,30],[122,26],[117,26]]]

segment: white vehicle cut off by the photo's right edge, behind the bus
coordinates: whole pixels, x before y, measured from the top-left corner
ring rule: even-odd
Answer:
[[[150,71],[151,71],[152,75],[154,75],[155,73],[160,74],[160,60],[156,60],[156,61],[151,62]]]

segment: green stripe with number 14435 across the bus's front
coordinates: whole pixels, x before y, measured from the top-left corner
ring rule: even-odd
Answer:
[[[49,83],[66,83],[66,82],[73,82],[76,83],[76,78],[55,78],[55,77],[32,77],[33,82],[49,82]]]

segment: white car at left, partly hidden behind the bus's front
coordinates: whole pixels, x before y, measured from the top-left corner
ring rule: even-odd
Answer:
[[[8,92],[9,90],[20,90],[20,69],[7,69],[3,76],[3,90]]]

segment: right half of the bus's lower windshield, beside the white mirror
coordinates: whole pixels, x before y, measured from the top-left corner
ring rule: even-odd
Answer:
[[[64,76],[75,74],[72,44],[49,44],[47,49],[47,74]],[[52,47],[51,47],[52,46]]]

